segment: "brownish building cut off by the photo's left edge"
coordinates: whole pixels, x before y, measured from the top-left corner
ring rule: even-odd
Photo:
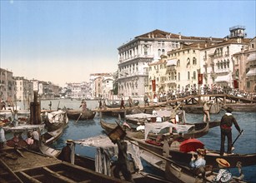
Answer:
[[[0,100],[7,101],[8,106],[13,106],[15,87],[13,72],[0,68]]]

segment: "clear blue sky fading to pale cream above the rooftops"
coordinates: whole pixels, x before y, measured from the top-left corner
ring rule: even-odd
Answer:
[[[155,29],[222,38],[241,25],[253,38],[255,7],[255,0],[0,0],[0,67],[60,87],[88,82],[91,73],[118,71],[118,47]]]

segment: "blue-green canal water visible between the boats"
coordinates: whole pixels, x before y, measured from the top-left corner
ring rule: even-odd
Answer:
[[[49,109],[48,104],[50,101],[41,101],[42,109]],[[73,108],[78,109],[81,101],[71,100],[71,99],[61,99],[52,100],[52,109],[57,109],[58,107],[63,108]],[[94,109],[98,107],[98,101],[87,101],[88,108]],[[211,115],[211,120],[220,120],[223,116],[224,111],[221,111],[217,115]],[[243,135],[239,136],[238,140],[234,144],[234,153],[256,153],[256,113],[255,112],[233,112],[233,116],[238,121],[238,125],[243,129]],[[103,116],[105,121],[115,121],[116,118]],[[203,115],[198,114],[187,114],[188,121],[196,122],[203,121]],[[99,123],[99,116],[96,115],[93,120],[88,121],[78,121],[75,122],[70,120],[68,127],[63,131],[63,136],[56,142],[54,142],[53,147],[61,150],[65,146],[65,141],[67,139],[83,139],[90,136],[98,136],[103,133],[103,129]],[[233,127],[233,140],[238,136],[238,131]],[[220,130],[219,127],[212,128],[206,136],[199,138],[203,142],[206,149],[219,150],[220,147]],[[227,140],[226,140],[227,141]],[[227,148],[227,144],[225,145]],[[76,152],[84,156],[94,157],[95,149],[93,147],[82,147],[76,146]],[[148,172],[155,172],[150,166],[145,169]],[[256,166],[243,167],[244,179],[249,182],[256,182]],[[238,176],[237,169],[231,169],[233,176]]]

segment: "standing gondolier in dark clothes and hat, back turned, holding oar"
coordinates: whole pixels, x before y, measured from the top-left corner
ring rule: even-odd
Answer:
[[[220,133],[221,133],[221,146],[220,146],[220,155],[223,156],[224,153],[224,146],[225,146],[225,138],[228,138],[228,154],[231,154],[232,150],[232,128],[231,126],[234,125],[238,132],[241,134],[242,131],[238,126],[238,122],[232,116],[233,109],[231,107],[226,108],[226,113],[221,118],[220,121]]]

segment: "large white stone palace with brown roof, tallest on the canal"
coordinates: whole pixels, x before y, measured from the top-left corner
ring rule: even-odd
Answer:
[[[118,47],[118,96],[132,96],[143,99],[148,92],[148,64],[157,62],[161,55],[186,44],[205,42],[208,37],[184,37],[180,34],[154,30],[135,37]],[[212,42],[223,39],[212,38]]]

